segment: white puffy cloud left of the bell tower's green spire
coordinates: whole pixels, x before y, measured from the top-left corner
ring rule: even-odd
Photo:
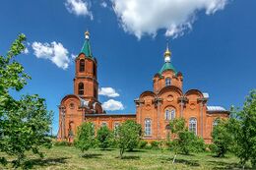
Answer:
[[[37,58],[44,58],[52,61],[57,67],[67,69],[70,63],[68,50],[60,42],[41,43],[32,42],[33,54]]]

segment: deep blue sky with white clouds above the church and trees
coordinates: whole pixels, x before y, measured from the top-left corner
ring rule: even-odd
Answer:
[[[256,87],[256,1],[200,2],[3,0],[0,54],[6,54],[19,32],[29,42],[29,53],[17,60],[32,80],[14,95],[38,93],[46,98],[48,109],[54,111],[56,133],[57,105],[64,95],[73,93],[72,54],[80,52],[89,29],[99,86],[119,94],[100,95],[99,100],[113,99],[124,107],[108,112],[135,112],[133,100],[153,88],[152,78],[163,64],[167,38],[172,64],[184,76],[185,91],[208,92],[209,105],[241,106],[245,95]]]

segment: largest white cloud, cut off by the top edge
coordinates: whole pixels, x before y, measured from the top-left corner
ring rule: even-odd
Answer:
[[[160,28],[166,36],[177,37],[191,29],[198,11],[207,15],[223,10],[230,0],[111,0],[125,31],[138,38],[155,36]]]

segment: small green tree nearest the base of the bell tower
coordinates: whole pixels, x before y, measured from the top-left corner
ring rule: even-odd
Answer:
[[[77,135],[75,138],[75,146],[84,153],[90,147],[94,147],[95,144],[96,138],[93,123],[83,123],[78,127]]]

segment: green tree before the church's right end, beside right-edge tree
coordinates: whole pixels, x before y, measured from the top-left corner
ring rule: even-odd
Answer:
[[[211,150],[218,157],[224,157],[224,154],[230,150],[232,137],[228,128],[228,120],[217,119],[217,125],[212,132],[213,144]]]

